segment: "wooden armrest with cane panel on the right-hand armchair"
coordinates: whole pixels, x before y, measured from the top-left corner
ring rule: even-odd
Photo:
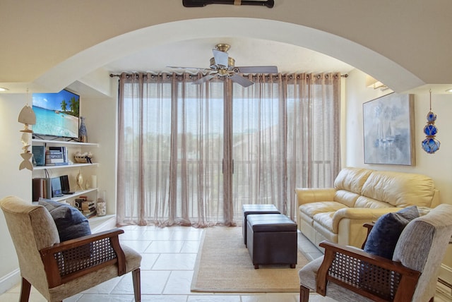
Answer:
[[[316,291],[326,294],[327,281],[375,301],[411,301],[420,272],[350,246],[322,241],[325,256]]]

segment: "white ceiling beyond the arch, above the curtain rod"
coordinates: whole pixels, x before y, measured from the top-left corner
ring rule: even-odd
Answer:
[[[162,44],[121,57],[104,68],[122,71],[177,71],[167,66],[208,68],[215,44],[227,43],[235,66],[278,66],[280,73],[348,73],[354,67],[331,56],[293,44],[244,37],[204,38]]]

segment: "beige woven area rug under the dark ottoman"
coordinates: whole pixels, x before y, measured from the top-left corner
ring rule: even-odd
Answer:
[[[213,227],[204,232],[191,291],[299,292],[298,270],[309,262],[298,251],[297,267],[260,265],[257,270],[244,245],[242,227]]]

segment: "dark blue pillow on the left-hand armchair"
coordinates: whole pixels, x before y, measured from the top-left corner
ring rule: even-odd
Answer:
[[[91,234],[88,219],[75,207],[43,198],[40,198],[38,204],[49,210],[57,225],[61,242]]]

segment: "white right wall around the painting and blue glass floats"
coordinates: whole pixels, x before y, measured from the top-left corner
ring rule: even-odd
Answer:
[[[449,132],[452,129],[452,94],[445,92],[441,95],[432,94],[432,111],[437,115],[436,138],[441,142],[439,151],[435,154],[427,154],[421,147],[421,142],[425,138],[424,126],[427,124],[426,116],[430,107],[429,88],[426,88],[425,91],[408,92],[415,94],[415,166],[364,164],[362,104],[391,92],[391,90],[367,88],[365,80],[366,74],[358,70],[352,71],[347,78],[346,109],[343,113],[347,143],[343,146],[345,151],[343,167],[366,167],[425,174],[432,177],[436,188],[439,189],[441,203],[452,204],[452,135]],[[452,268],[452,246],[448,247],[444,264]]]

